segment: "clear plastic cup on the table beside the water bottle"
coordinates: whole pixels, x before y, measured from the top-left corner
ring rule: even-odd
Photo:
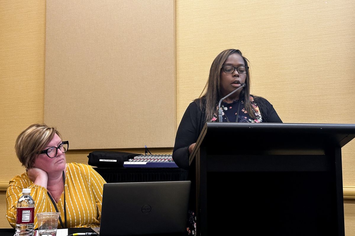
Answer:
[[[59,212],[37,213],[39,236],[55,236],[58,227]]]

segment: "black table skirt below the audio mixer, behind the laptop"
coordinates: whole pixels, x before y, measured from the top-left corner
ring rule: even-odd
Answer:
[[[158,182],[187,180],[188,171],[181,168],[98,168],[96,170],[108,183]]]

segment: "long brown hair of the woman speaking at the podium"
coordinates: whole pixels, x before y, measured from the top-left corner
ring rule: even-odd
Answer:
[[[225,60],[234,53],[239,54],[243,58],[245,65],[249,66],[248,59],[238,49],[224,50],[214,58],[209,69],[208,81],[198,98],[201,110],[206,111],[206,122],[211,121],[212,117],[217,114],[218,102],[222,98],[220,94],[220,71]],[[255,119],[254,110],[250,102],[250,68],[246,73],[245,85],[244,89],[240,92],[240,99],[244,101],[244,106],[249,116]]]

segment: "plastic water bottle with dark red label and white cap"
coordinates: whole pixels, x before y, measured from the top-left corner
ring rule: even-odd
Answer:
[[[22,189],[22,197],[17,202],[15,236],[33,236],[34,200],[30,193],[31,189]]]

